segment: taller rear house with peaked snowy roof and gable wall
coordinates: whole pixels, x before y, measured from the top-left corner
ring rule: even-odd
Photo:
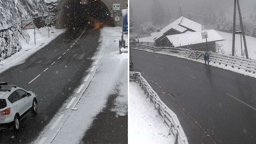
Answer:
[[[202,25],[185,17],[180,17],[176,21],[167,25],[165,28],[159,32],[158,36],[156,36],[155,43],[156,46],[161,46],[160,40],[168,35],[173,34],[182,34],[186,32],[198,32],[202,31]]]

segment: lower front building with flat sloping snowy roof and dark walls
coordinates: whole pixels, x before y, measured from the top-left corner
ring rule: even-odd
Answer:
[[[207,44],[206,44],[207,36]],[[184,49],[216,52],[215,42],[223,38],[215,30],[203,30],[200,32],[185,32],[165,36],[160,40],[163,47],[178,47]]]

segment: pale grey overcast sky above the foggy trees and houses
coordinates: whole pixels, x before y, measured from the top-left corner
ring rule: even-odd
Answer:
[[[181,6],[182,12],[205,11],[207,13],[218,13],[220,9],[229,12],[230,18],[233,17],[234,0],[159,0],[164,6],[165,11],[177,13],[178,8]],[[151,21],[151,9],[153,0],[130,0],[135,15],[135,20]],[[256,5],[256,0],[240,0],[241,11],[252,10]],[[198,12],[195,12],[196,14]],[[245,12],[247,13],[247,12]]]

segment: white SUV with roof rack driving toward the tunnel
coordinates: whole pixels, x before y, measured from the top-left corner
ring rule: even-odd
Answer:
[[[16,85],[0,83],[0,129],[20,129],[20,121],[28,114],[37,113],[37,97]]]

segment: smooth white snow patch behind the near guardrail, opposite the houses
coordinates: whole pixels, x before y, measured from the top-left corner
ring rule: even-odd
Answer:
[[[135,82],[129,84],[128,142],[130,144],[174,144],[168,127]]]

